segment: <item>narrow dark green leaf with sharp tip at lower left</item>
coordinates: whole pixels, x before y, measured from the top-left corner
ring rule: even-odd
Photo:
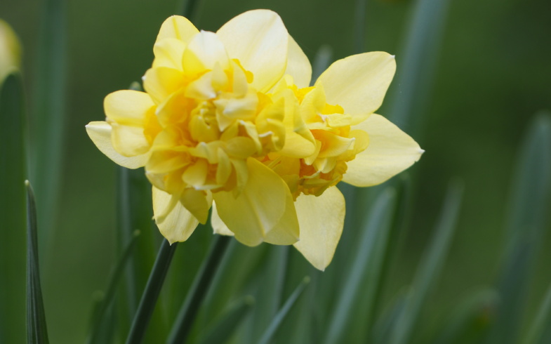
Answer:
[[[27,187],[27,343],[48,344],[48,328],[40,286],[36,204],[29,180]]]

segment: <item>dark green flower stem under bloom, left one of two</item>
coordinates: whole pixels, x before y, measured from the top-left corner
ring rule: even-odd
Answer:
[[[157,303],[157,298],[159,298],[166,272],[168,272],[168,267],[171,265],[177,245],[178,243],[171,245],[167,240],[164,240],[161,244],[161,249],[157,253],[157,259],[151,270],[150,278],[147,279],[140,305],[138,305],[138,311],[134,316],[130,333],[128,333],[128,338],[126,338],[126,344],[138,344],[142,342],[145,329],[147,329],[147,323],[150,322],[155,303]]]

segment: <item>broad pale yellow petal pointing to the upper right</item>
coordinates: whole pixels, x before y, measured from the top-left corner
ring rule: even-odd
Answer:
[[[342,106],[346,113],[371,114],[383,103],[395,71],[394,56],[363,53],[334,62],[316,85],[324,86],[329,104]]]

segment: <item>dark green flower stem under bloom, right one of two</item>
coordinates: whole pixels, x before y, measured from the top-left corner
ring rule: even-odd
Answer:
[[[211,250],[208,252],[208,258],[201,265],[201,269],[193,281],[190,292],[187,293],[187,297],[180,308],[180,312],[178,312],[178,317],[176,317],[166,343],[184,343],[192,327],[195,315],[197,315],[199,306],[208,292],[208,287],[211,285],[214,274],[231,239],[231,237],[223,235],[215,237]]]

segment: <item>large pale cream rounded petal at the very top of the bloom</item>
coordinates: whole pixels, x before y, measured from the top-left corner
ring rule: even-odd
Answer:
[[[277,13],[254,10],[237,15],[220,27],[218,37],[230,58],[237,58],[254,75],[252,85],[270,90],[284,74],[288,33]]]

